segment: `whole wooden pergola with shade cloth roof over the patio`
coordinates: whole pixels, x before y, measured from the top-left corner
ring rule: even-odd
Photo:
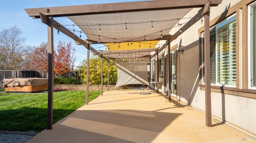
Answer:
[[[25,9],[32,18],[40,18],[48,25],[48,121],[47,129],[52,129],[53,112],[53,28],[58,29],[77,44],[83,45],[89,53],[99,55],[101,59],[127,59],[158,56],[158,51],[168,48],[168,75],[170,75],[170,43],[191,25],[204,17],[204,51],[205,51],[205,96],[206,96],[206,126],[211,122],[210,95],[210,6],[218,6],[222,0],[151,0],[142,2],[122,2],[112,4],[92,4],[80,6],[63,6],[50,8]],[[191,18],[184,18],[192,8],[201,8]],[[74,22],[73,29],[68,29],[54,20],[55,17],[68,17]],[[182,23],[180,23],[182,20]],[[78,26],[81,31],[76,31]],[[176,33],[169,33],[174,27],[180,28]],[[76,34],[78,33],[77,36]],[[88,39],[81,39],[85,33]],[[165,45],[157,44],[166,40]],[[97,51],[90,44],[102,43],[108,51]],[[130,45],[130,46],[129,46]],[[131,47],[132,45],[132,47]],[[156,51],[154,55],[150,55]],[[120,56],[120,53],[122,56]],[[144,54],[143,54],[144,53]],[[130,57],[128,57],[130,56]],[[102,60],[101,60],[102,61]],[[89,67],[89,62],[87,62]],[[102,64],[101,64],[102,69]],[[89,68],[87,68],[87,77]],[[168,76],[170,81],[170,76]],[[87,82],[89,79],[87,78]],[[170,84],[168,84],[170,93]],[[86,84],[86,91],[88,91]],[[103,89],[103,88],[102,88]],[[103,91],[103,90],[102,90]],[[169,99],[170,100],[170,99]],[[86,92],[88,104],[88,92]]]

